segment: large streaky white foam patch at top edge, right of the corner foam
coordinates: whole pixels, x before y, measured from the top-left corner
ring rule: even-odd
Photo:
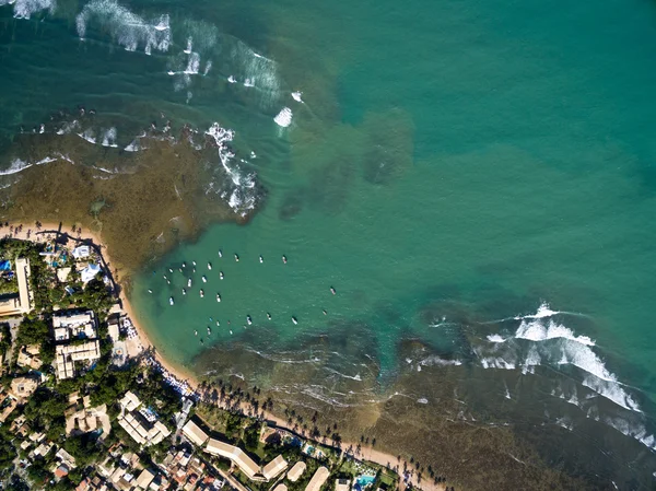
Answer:
[[[152,49],[164,52],[171,45],[167,14],[148,21],[116,0],[92,0],[75,20],[81,39],[86,36],[90,22],[96,22],[103,31],[109,32],[116,43],[128,51],[136,51],[141,47],[147,54]]]

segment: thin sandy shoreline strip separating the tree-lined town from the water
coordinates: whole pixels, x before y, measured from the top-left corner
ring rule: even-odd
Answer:
[[[13,225],[12,222],[9,222],[9,223],[10,223],[10,226]],[[68,234],[68,232],[66,232],[63,230],[63,222],[60,222],[60,223],[40,222],[39,230],[36,230],[36,226],[34,229],[28,227],[28,229],[24,230],[25,224],[19,223],[19,225],[22,225],[23,230],[21,230],[20,232],[15,232],[15,230],[14,230],[11,234],[9,234],[9,235],[5,234],[4,236],[7,236],[9,238],[21,239],[21,241],[45,242],[48,239],[50,234],[56,234],[56,233],[67,233]],[[73,236],[73,233],[74,233],[74,236]],[[107,249],[107,245],[101,239],[99,233],[82,229],[80,233],[71,231],[71,234],[69,234],[69,235],[74,241],[93,243],[101,250],[101,255],[103,256],[103,259],[104,259],[107,268],[112,267],[113,258],[112,258],[110,252]],[[115,279],[115,282],[116,282],[116,284],[118,284],[120,287],[120,281]],[[168,372],[169,375],[173,375],[173,377],[177,378],[179,382],[188,384],[189,388],[192,390],[194,394],[201,395],[201,390],[199,389],[200,379],[198,378],[197,375],[192,374],[191,372],[189,372],[188,370],[186,370],[184,367],[176,366],[176,364],[167,361],[164,356],[162,356],[160,354],[160,352],[157,351],[157,348],[149,338],[148,332],[145,331],[143,326],[139,323],[138,317],[136,315],[136,309],[132,306],[132,304],[130,303],[130,301],[128,300],[124,288],[119,289],[118,300],[120,302],[122,312],[125,313],[127,318],[130,320],[131,326],[134,328],[134,330],[137,332],[137,337],[134,338],[136,346],[130,347],[131,349],[128,348],[128,355],[130,358],[134,358],[134,356],[139,356],[139,354],[150,351],[152,353],[153,360],[156,363],[159,363],[160,366],[164,371]],[[222,405],[219,402],[216,402],[216,407],[220,407],[220,408],[223,408],[226,410],[230,409],[226,405]],[[249,411],[247,410],[247,408],[244,404],[239,404],[238,409],[242,412],[244,412],[245,414],[249,414]],[[263,413],[265,419],[267,421],[274,423],[278,428],[296,433],[296,431],[293,428],[290,428],[288,425],[286,421],[284,421],[282,418],[278,417],[267,410],[260,409],[260,413]],[[312,439],[308,439],[308,440],[312,440]],[[362,444],[358,444],[354,442],[348,442],[348,441],[342,442],[343,448],[349,448],[349,447],[355,448],[359,445],[361,446],[360,453],[358,455],[353,454],[356,458],[370,460],[370,461],[378,464],[383,467],[388,466],[390,469],[395,469],[395,468],[398,469],[396,472],[399,475],[399,478],[400,478],[399,486],[400,486],[401,491],[405,490],[407,487],[407,484],[405,482],[405,477],[407,478],[408,482],[412,484],[412,487],[421,489],[423,491],[443,491],[446,489],[445,484],[434,483],[427,478],[422,479],[420,482],[418,479],[418,475],[413,470],[413,466],[403,458],[401,458],[399,460],[396,456],[385,453],[383,451],[379,451],[377,448],[374,448],[371,445],[362,445]],[[330,445],[328,445],[328,446],[330,446]],[[344,451],[342,451],[342,452],[344,452]],[[396,463],[396,465],[395,465],[395,463]],[[403,476],[403,474],[401,472],[401,468],[405,466],[407,466],[407,468],[409,469],[409,472],[407,476]]]

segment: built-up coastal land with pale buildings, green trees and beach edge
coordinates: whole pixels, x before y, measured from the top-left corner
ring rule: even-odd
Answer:
[[[315,431],[285,425],[258,387],[183,379],[140,335],[97,241],[0,226],[0,489],[453,489],[371,457],[375,439],[344,444],[337,425],[319,439],[319,414]]]

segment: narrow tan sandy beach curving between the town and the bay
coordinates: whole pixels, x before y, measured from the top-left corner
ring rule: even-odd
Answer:
[[[96,245],[101,248],[105,264],[107,265],[108,268],[112,269],[112,265],[113,265],[112,252],[107,249],[107,246],[102,242],[101,236],[93,231],[78,229],[75,232],[73,232],[72,226],[65,227],[63,222],[62,223],[40,222],[39,229],[37,229],[34,223],[31,223],[31,224],[23,223],[22,230],[20,230],[19,232],[15,231],[15,227],[20,226],[21,223],[10,222],[10,226],[12,226],[12,225],[14,227],[12,230],[12,232],[9,234],[4,234],[4,235],[11,236],[12,238],[23,239],[23,241],[47,242],[49,239],[55,238],[55,234],[58,231],[61,233],[67,233],[71,237],[73,237],[74,239],[80,241],[80,242],[91,241],[94,245]],[[9,230],[7,227],[4,227],[4,232],[9,232]],[[117,283],[119,283],[117,272],[115,272],[114,279]],[[160,363],[160,365],[164,370],[166,370],[171,375],[173,375],[178,381],[186,382],[192,390],[197,391],[198,387],[199,387],[199,379],[194,374],[188,372],[187,370],[184,370],[179,366],[176,366],[176,365],[169,363],[163,356],[161,356],[160,353],[156,351],[156,347],[150,341],[147,331],[140,325],[138,317],[136,315],[134,308],[130,304],[128,297],[126,296],[124,289],[120,289],[119,299],[120,299],[122,311],[124,311],[125,315],[127,315],[127,317],[130,319],[132,327],[137,331],[137,337],[134,339],[127,341],[128,355],[130,358],[134,358],[134,356],[138,356],[139,354],[141,354],[144,350],[152,350],[152,352],[154,353],[155,361],[157,363]],[[246,405],[242,405],[241,409],[245,413],[249,412]],[[288,426],[286,421],[284,421],[282,418],[279,418],[269,411],[263,411],[263,413],[265,413],[265,418],[267,420],[274,422],[278,426],[293,431],[291,428]],[[358,447],[358,445],[359,445],[358,443],[353,443],[353,442],[342,442],[343,448],[349,448],[349,447],[355,448],[355,447]],[[424,491],[443,491],[445,489],[444,484],[442,484],[442,483],[436,484],[430,479],[422,479],[420,482],[418,479],[417,472],[413,471],[413,466],[409,461],[406,461],[403,459],[399,460],[397,458],[397,456],[394,456],[391,454],[373,448],[371,445],[361,445],[361,452],[360,452],[360,454],[356,455],[356,457],[366,459],[366,460],[371,460],[371,461],[376,463],[382,466],[389,466],[390,468],[398,468],[399,470],[401,470],[406,466],[408,469],[411,469],[411,470],[409,470],[409,474],[407,476],[408,481],[410,483],[412,483],[413,487],[420,488]],[[405,489],[405,488],[406,488],[406,486],[401,481],[401,489]]]

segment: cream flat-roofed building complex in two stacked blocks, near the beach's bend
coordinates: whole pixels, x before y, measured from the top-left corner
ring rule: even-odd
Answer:
[[[97,324],[92,311],[65,311],[52,316],[55,361],[57,378],[75,376],[75,362],[91,362],[101,358],[101,343],[97,339]]]

